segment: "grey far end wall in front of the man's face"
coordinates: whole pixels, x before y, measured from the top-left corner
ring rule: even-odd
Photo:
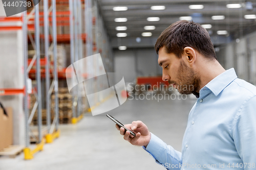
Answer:
[[[124,75],[125,82],[133,82],[138,76],[159,76],[158,55],[154,48],[114,51],[115,72]]]

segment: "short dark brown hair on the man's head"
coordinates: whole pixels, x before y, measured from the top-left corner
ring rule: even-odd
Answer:
[[[193,21],[180,20],[165,29],[155,44],[157,54],[163,46],[166,53],[174,53],[178,58],[181,58],[184,48],[190,46],[206,58],[217,60],[208,32]]]

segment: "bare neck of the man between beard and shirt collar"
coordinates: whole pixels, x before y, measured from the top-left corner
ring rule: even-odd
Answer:
[[[226,70],[221,66],[221,64],[215,61],[206,61],[199,66],[200,75],[200,85],[198,90],[200,91],[206,84],[208,84],[212,79],[216,78]],[[199,93],[199,91],[197,91]]]

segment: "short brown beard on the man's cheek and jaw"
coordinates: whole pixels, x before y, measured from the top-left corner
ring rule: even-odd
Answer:
[[[181,94],[199,93],[200,77],[196,71],[189,68],[186,63],[181,60],[178,69],[177,79],[179,83],[168,81],[169,84],[175,84],[176,89]]]

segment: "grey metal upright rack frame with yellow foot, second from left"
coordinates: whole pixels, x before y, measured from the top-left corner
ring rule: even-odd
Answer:
[[[45,33],[45,58],[46,58],[46,110],[47,110],[47,132],[46,142],[51,143],[53,139],[59,137],[59,110],[58,110],[58,68],[57,68],[57,32],[56,32],[56,2],[52,0],[52,6],[48,7],[48,0],[44,1],[44,33]],[[52,9],[52,10],[51,10]],[[50,11],[51,10],[51,11]],[[50,46],[53,46],[54,67],[53,67],[53,81],[50,88],[50,72],[49,72],[49,13],[52,13],[52,39],[53,42]],[[51,124],[51,93],[54,87],[55,92],[55,115]],[[55,129],[55,131],[54,131]]]

